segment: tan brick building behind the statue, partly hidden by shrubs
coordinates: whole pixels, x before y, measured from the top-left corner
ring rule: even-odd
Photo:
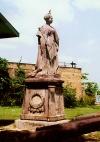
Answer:
[[[17,64],[14,62],[9,62],[9,75],[13,77],[15,75],[15,71],[17,69]],[[29,73],[35,69],[35,64],[27,64],[27,63],[20,63],[20,66],[25,70],[25,73]],[[70,84],[73,88],[76,89],[77,99],[82,97],[82,71],[81,68],[72,67],[72,66],[65,66],[60,65],[58,69],[58,73],[61,75],[61,78],[64,80],[64,86]]]

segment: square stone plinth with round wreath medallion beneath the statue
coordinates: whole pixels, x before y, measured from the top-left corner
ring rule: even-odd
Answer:
[[[22,120],[59,121],[64,119],[63,81],[59,76],[28,78]]]

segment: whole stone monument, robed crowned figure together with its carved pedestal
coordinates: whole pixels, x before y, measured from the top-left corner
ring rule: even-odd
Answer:
[[[44,16],[44,20],[46,24],[37,32],[38,56],[35,70],[25,79],[25,95],[20,120],[23,126],[29,123],[29,127],[33,127],[36,123],[32,120],[37,121],[39,125],[41,121],[44,126],[44,121],[55,122],[64,119],[62,93],[64,81],[57,74],[59,38],[56,30],[51,26],[53,22],[51,11]],[[26,121],[25,124],[25,120],[30,121]]]

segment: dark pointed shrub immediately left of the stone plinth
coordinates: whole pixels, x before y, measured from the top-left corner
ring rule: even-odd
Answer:
[[[11,97],[12,105],[21,105],[24,95],[25,88],[25,71],[20,66],[20,62],[17,64],[17,69],[15,71],[15,76],[11,80]]]

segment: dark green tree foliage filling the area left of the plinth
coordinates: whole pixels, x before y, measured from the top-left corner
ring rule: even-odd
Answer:
[[[8,61],[0,58],[0,105],[21,105],[24,94],[25,71],[17,64],[15,76],[9,77]]]

